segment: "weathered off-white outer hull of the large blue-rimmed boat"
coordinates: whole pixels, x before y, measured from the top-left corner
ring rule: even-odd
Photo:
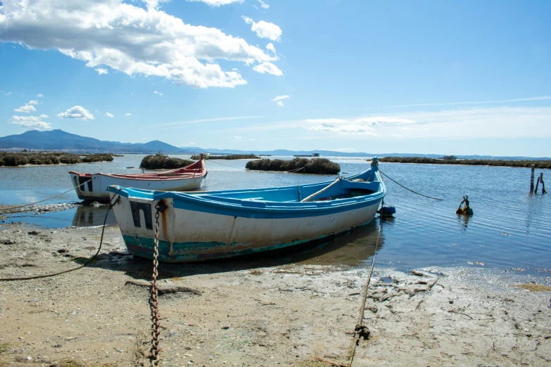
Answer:
[[[130,200],[151,205],[151,213],[139,210],[139,226],[132,217]],[[132,255],[153,258],[153,227],[156,202],[120,198],[113,207],[120,231]],[[259,219],[175,209],[165,199],[167,210],[159,218],[159,259],[163,262],[198,262],[257,252],[279,250],[314,240],[323,240],[371,221],[381,200],[346,212],[314,217]],[[153,218],[152,218],[153,217]],[[148,220],[152,220],[148,224]],[[151,227],[151,228],[148,228]]]

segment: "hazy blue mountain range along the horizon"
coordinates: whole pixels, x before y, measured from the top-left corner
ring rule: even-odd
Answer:
[[[99,139],[70,134],[61,129],[37,131],[25,131],[23,134],[8,135],[0,137],[0,150],[63,150],[72,153],[170,153],[170,154],[193,154],[193,153],[214,153],[214,154],[248,154],[257,155],[311,155],[319,153],[322,157],[431,157],[438,158],[438,154],[415,154],[415,153],[344,153],[334,150],[235,150],[235,149],[212,149],[199,147],[177,147],[153,140],[148,143],[121,143],[120,141],[103,141]],[[507,160],[550,160],[549,157],[493,157],[490,155],[462,155],[467,159],[507,159]]]

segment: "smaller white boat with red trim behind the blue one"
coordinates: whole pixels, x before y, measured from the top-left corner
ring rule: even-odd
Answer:
[[[198,188],[207,176],[205,155],[189,166],[170,171],[144,174],[83,174],[69,172],[78,198],[87,201],[108,201],[108,186],[118,185],[155,191],[185,191]]]

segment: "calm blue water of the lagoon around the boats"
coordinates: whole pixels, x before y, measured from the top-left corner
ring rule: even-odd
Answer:
[[[144,155],[115,157],[110,163],[0,169],[0,204],[42,200],[71,187],[70,170],[137,173]],[[186,157],[186,156],[179,156]],[[272,157],[273,158],[273,157]],[[342,172],[369,167],[358,160],[338,160]],[[246,161],[208,161],[203,190],[306,184],[330,176],[246,172]],[[228,167],[231,166],[231,167]],[[398,269],[424,266],[485,266],[526,273],[551,273],[551,194],[529,195],[530,169],[381,163],[381,171],[426,195],[414,195],[386,181],[386,204],[396,207],[393,219],[382,221],[376,262]],[[346,175],[348,175],[346,174]],[[551,170],[544,170],[550,180]],[[550,188],[547,188],[550,189]],[[469,195],[474,216],[455,214],[462,195]],[[50,202],[77,202],[70,191]],[[11,220],[42,226],[98,226],[105,207],[77,207],[49,214],[18,215]],[[114,218],[110,217],[110,222]],[[370,262],[379,219],[331,243],[300,252],[295,262],[362,265]]]

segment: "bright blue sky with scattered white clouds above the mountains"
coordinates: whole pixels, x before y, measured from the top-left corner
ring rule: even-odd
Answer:
[[[551,1],[0,0],[0,136],[551,157]]]

